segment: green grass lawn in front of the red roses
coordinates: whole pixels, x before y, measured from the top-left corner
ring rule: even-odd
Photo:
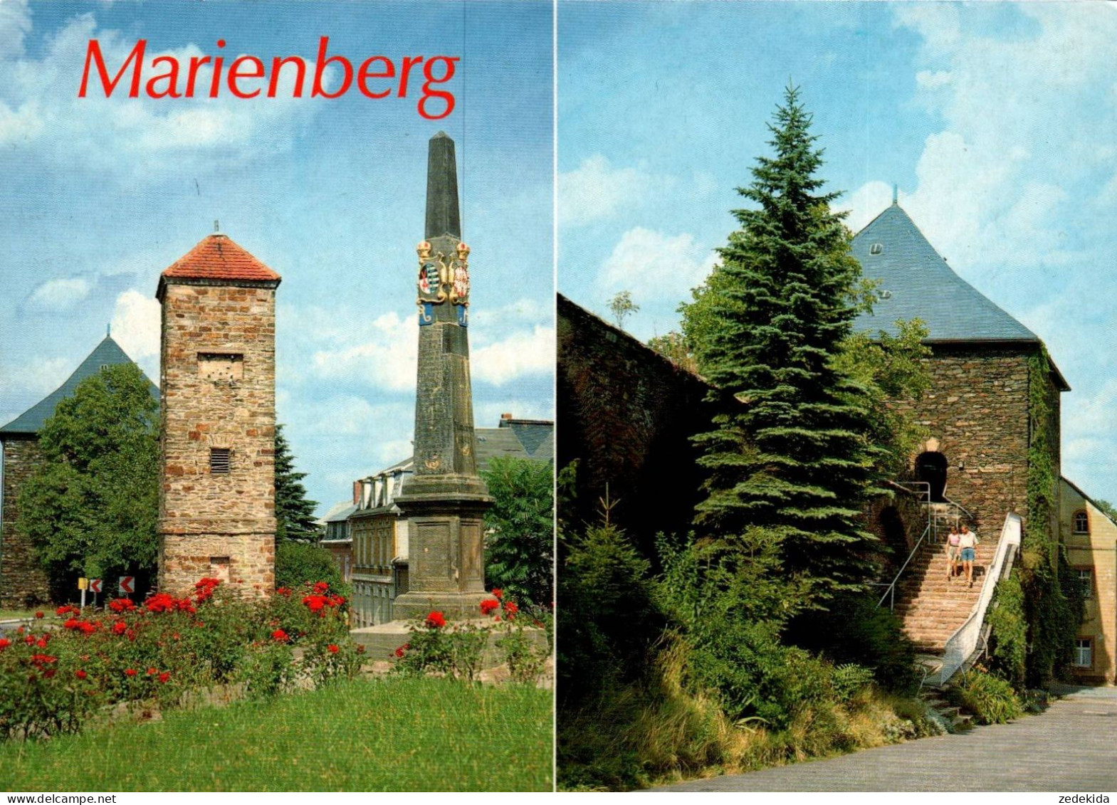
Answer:
[[[551,691],[353,680],[0,745],[3,787],[41,790],[551,790]]]

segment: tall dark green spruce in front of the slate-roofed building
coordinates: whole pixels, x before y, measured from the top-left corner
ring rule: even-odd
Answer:
[[[734,211],[741,229],[684,327],[699,371],[741,403],[697,438],[709,473],[697,525],[729,545],[764,529],[800,605],[824,606],[866,578],[875,537],[861,512],[881,457],[868,390],[836,362],[862,286],[810,126],[789,87],[768,125],[774,155],[737,190],[755,207]]]

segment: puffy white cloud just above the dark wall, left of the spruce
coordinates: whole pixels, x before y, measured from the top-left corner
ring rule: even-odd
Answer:
[[[621,236],[598,276],[602,296],[619,290],[646,299],[682,299],[699,285],[716,261],[715,253],[693,234],[663,234],[634,227]]]

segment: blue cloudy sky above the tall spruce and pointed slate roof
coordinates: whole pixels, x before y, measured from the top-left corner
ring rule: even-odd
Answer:
[[[714,262],[789,80],[856,231],[899,202],[1047,343],[1063,475],[1117,501],[1117,7],[577,3],[558,10],[558,285],[641,338]]]

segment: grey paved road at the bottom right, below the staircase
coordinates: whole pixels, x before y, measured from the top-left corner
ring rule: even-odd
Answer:
[[[1117,688],[1072,690],[1046,712],[1012,723],[657,790],[1117,790]],[[951,774],[962,758],[968,773]]]

